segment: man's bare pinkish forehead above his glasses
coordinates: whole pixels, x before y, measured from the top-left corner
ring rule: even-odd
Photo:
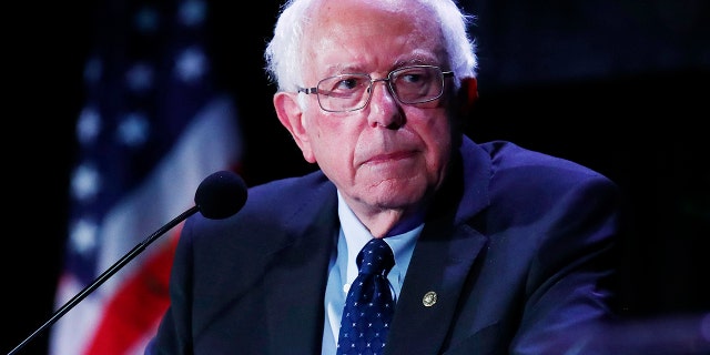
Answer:
[[[322,0],[316,7],[304,31],[306,72],[389,70],[443,59],[440,27],[418,1]]]

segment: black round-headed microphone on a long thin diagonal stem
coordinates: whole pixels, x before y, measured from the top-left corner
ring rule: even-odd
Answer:
[[[97,277],[91,284],[84,287],[74,297],[69,300],[69,302],[67,302],[61,308],[57,310],[57,312],[52,314],[49,321],[42,324],[42,326],[34,331],[34,333],[22,341],[22,343],[16,346],[10,353],[8,353],[8,355],[16,354],[41,332],[59,321],[59,318],[61,318],[67,312],[69,312],[79,302],[81,302],[94,290],[101,286],[106,280],[109,280],[109,277],[121,270],[121,267],[125,266],[125,264],[138,256],[138,254],[143,252],[145,247],[148,247],[148,245],[153,243],[165,232],[180,224],[189,216],[195,214],[197,211],[200,211],[203,216],[210,220],[222,220],[236,214],[240,210],[242,210],[244,203],[246,203],[246,184],[244,183],[244,180],[242,180],[242,178],[236,173],[225,170],[217,171],[205,178],[200,183],[195,192],[194,206],[174,217],[158,231],[153,232],[153,234],[148,236],[141,243],[136,244],[130,252],[123,255],[123,257],[121,257],[118,262],[111,265],[111,267],[99,275],[99,277]]]

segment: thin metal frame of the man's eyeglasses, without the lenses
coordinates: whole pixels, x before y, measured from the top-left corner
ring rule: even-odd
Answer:
[[[407,69],[413,69],[413,68],[430,68],[430,69],[436,69],[439,71],[440,73],[440,78],[442,78],[442,92],[439,92],[436,97],[434,98],[429,98],[423,101],[414,101],[414,102],[404,102],[402,101],[402,99],[399,99],[399,95],[397,94],[397,92],[395,91],[395,88],[393,88],[393,83],[392,83],[392,74],[399,72],[399,71],[405,71]],[[323,108],[323,104],[321,103],[321,95],[318,94],[318,85],[321,85],[322,82],[326,81],[326,80],[331,80],[334,78],[339,78],[339,77],[349,77],[349,75],[361,75],[361,77],[367,77],[369,79],[369,84],[366,88],[366,92],[367,92],[367,100],[363,103],[363,105],[361,106],[356,106],[354,109],[349,109],[349,110],[326,110],[325,108]],[[442,70],[442,68],[437,67],[437,65],[408,65],[408,67],[402,67],[402,68],[397,68],[394,69],[392,71],[389,71],[387,73],[386,78],[382,78],[382,79],[373,79],[369,74],[366,73],[344,73],[344,74],[337,74],[337,75],[332,75],[332,77],[327,77],[324,79],[318,80],[317,84],[313,88],[301,88],[297,87],[297,92],[298,93],[305,93],[305,94],[312,94],[315,93],[316,94],[316,100],[318,100],[318,106],[321,108],[321,110],[326,111],[326,112],[353,112],[353,111],[359,111],[364,108],[367,106],[367,104],[369,103],[369,101],[373,98],[373,85],[378,82],[378,81],[383,81],[387,83],[387,90],[389,91],[389,94],[397,100],[397,102],[402,103],[402,104],[419,104],[419,103],[426,103],[426,102],[432,102],[434,100],[438,100],[439,98],[442,98],[442,95],[444,94],[444,88],[445,88],[445,81],[444,79],[446,78],[454,78],[454,72],[453,71],[444,71]]]

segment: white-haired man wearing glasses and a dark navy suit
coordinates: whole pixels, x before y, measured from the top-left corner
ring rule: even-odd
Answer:
[[[373,239],[394,254],[395,303],[373,354],[585,354],[612,315],[619,192],[463,135],[469,19],[449,0],[286,3],[265,53],[273,102],[320,170],[186,222],[148,354],[336,354]]]

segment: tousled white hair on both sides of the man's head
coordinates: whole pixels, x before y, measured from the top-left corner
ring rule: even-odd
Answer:
[[[474,17],[462,11],[454,0],[413,0],[432,10],[439,24],[448,64],[456,77],[475,78],[477,70],[476,43],[468,34]],[[274,37],[264,52],[266,74],[278,91],[296,91],[303,82],[306,58],[303,58],[304,28],[311,21],[316,0],[286,0],[274,27]]]

